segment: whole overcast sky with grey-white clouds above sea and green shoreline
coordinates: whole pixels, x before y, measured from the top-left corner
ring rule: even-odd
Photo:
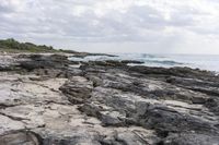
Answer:
[[[219,55],[219,0],[0,0],[0,38],[90,52]]]

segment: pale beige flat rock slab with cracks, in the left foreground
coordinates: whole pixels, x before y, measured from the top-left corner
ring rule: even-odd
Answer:
[[[120,142],[143,145],[160,141],[152,130],[105,128],[99,119],[82,113],[78,110],[79,105],[72,105],[59,90],[66,78],[33,81],[33,77],[37,76],[0,74],[0,145],[101,145]],[[85,86],[92,88],[84,77],[72,80],[81,86],[78,87],[80,89]]]

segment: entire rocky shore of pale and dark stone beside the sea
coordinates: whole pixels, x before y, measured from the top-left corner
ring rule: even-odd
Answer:
[[[1,55],[0,145],[219,145],[219,76],[129,62]]]

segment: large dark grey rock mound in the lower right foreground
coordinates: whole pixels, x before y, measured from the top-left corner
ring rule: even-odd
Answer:
[[[214,128],[214,123],[159,106],[149,106],[146,113],[139,118],[139,122],[147,128],[162,132],[195,131],[219,133],[217,128]]]

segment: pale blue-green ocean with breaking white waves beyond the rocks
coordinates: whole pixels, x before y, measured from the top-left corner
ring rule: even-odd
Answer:
[[[217,55],[149,55],[149,53],[111,53],[117,57],[90,56],[84,59],[71,58],[74,61],[95,60],[138,60],[147,67],[188,67],[219,73],[219,56]],[[129,64],[136,65],[136,64]],[[138,64],[139,65],[139,64]]]

